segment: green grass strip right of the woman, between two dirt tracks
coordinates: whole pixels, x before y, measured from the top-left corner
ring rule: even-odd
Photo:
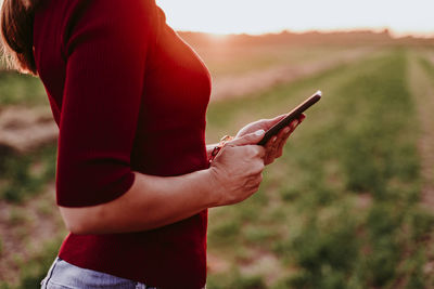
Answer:
[[[408,54],[391,50],[209,109],[209,130],[234,132],[324,92],[260,192],[212,211],[209,254],[226,266],[210,271],[209,288],[434,286]]]

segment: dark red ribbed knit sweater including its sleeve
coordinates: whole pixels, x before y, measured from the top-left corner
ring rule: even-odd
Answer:
[[[65,207],[111,201],[132,171],[207,168],[209,74],[154,0],[44,0],[35,58],[60,129],[56,197]],[[206,279],[207,212],[157,229],[74,235],[60,258],[162,288]]]

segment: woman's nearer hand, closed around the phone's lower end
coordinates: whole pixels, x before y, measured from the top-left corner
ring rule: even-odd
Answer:
[[[265,148],[256,145],[264,131],[228,142],[210,165],[216,207],[240,202],[259,188],[263,181]]]

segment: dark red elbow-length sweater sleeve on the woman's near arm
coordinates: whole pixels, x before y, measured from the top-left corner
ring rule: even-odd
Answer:
[[[133,183],[130,153],[154,42],[152,1],[82,0],[65,28],[58,205],[111,201]]]

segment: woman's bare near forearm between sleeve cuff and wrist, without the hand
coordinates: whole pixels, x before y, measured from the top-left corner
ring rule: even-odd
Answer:
[[[75,234],[152,229],[217,203],[210,170],[169,178],[135,174],[131,188],[113,201],[82,208],[60,207],[68,229]]]

